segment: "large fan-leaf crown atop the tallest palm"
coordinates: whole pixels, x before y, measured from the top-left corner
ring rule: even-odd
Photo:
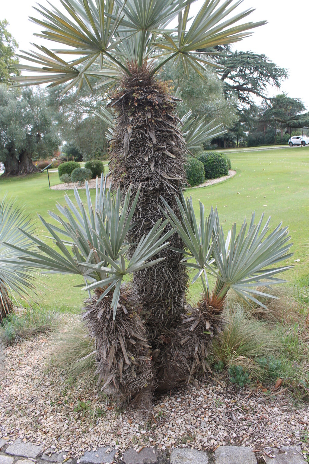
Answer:
[[[38,51],[23,52],[20,57],[32,64],[19,67],[39,74],[15,80],[22,85],[67,82],[65,90],[75,85],[80,89],[85,80],[91,89],[90,76],[117,82],[123,71],[130,74],[132,61],[141,67],[153,60],[155,73],[170,59],[182,64],[187,74],[190,68],[202,74],[204,64],[211,63],[197,50],[237,42],[264,24],[240,24],[253,11],[235,13],[242,1],[205,0],[190,26],[190,0],[60,0],[63,11],[35,7],[43,17],[31,18],[43,27],[35,35],[65,47],[48,50],[35,45]],[[177,27],[169,27],[177,19]]]

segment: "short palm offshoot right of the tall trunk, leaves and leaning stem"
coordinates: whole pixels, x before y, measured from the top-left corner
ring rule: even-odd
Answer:
[[[291,266],[274,267],[274,264],[292,256],[289,251],[293,244],[290,243],[288,228],[281,224],[269,233],[270,217],[262,226],[264,213],[257,225],[254,224],[255,213],[252,213],[249,226],[245,218],[238,235],[236,224],[233,224],[225,238],[217,209],[211,208],[205,217],[205,208],[200,202],[198,224],[191,197],[185,199],[182,192],[180,198],[176,197],[179,218],[166,200],[162,201],[166,208],[162,209],[162,213],[183,240],[184,249],[179,250],[184,255],[182,262],[197,271],[192,282],[201,279],[203,288],[201,300],[196,308],[189,307],[181,315],[182,324],[173,332],[164,351],[164,366],[170,373],[168,377],[158,375],[158,388],[164,390],[167,378],[171,387],[189,380],[192,375],[198,376],[210,370],[207,346],[210,339],[221,332],[228,290],[232,289],[240,298],[267,310],[257,298],[277,298],[270,294],[271,287],[285,281],[275,276]],[[215,279],[212,289],[209,287],[209,275]],[[260,287],[261,282],[264,288]],[[175,365],[179,368],[175,369]]]

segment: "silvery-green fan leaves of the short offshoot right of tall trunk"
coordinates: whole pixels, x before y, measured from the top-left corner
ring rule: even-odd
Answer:
[[[248,230],[245,219],[237,236],[234,223],[232,230],[228,231],[227,238],[225,238],[217,209],[213,210],[211,207],[209,216],[205,217],[204,205],[200,202],[200,224],[198,226],[191,197],[185,199],[181,190],[180,198],[176,197],[180,218],[176,216],[170,205],[164,199],[162,200],[166,208],[165,211],[162,210],[164,215],[170,219],[186,246],[183,253],[187,256],[183,258],[183,263],[197,270],[192,283],[201,277],[205,296],[209,298],[207,277],[209,273],[216,277],[214,290],[211,293],[212,298],[223,301],[231,288],[240,298],[265,307],[261,301],[257,301],[255,296],[269,298],[272,296],[254,287],[259,287],[264,282],[266,289],[269,289],[271,283],[284,282],[274,276],[290,269],[290,266],[272,269],[271,266],[292,256],[288,253],[292,246],[289,243],[288,228],[282,228],[279,224],[269,236],[266,236],[271,218],[269,217],[265,226],[262,227],[264,213],[257,225],[254,224],[255,213],[252,213]],[[194,258],[195,262],[192,262],[191,258]]]

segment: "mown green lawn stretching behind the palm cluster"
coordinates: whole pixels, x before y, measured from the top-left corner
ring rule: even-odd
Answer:
[[[217,206],[225,231],[236,222],[240,226],[246,218],[250,220],[255,210],[259,219],[263,211],[265,217],[271,215],[271,226],[283,221],[290,227],[295,255],[290,264],[295,267],[286,273],[286,278],[296,284],[308,279],[309,274],[309,147],[298,149],[265,150],[259,152],[233,152],[228,154],[232,168],[237,170],[233,179],[210,187],[191,189],[187,194],[194,201],[198,212],[199,200],[206,211]],[[59,183],[57,173],[50,173],[50,183]],[[79,191],[82,198],[85,193]],[[94,190],[92,195],[94,196]],[[38,225],[38,235],[45,234],[36,213],[47,218],[47,210],[56,211],[55,204],[63,203],[63,191],[48,188],[47,174],[35,174],[25,178],[4,179],[0,177],[0,195],[17,197]],[[74,198],[72,190],[69,197]],[[300,259],[300,262],[294,260]],[[73,285],[81,284],[79,277],[51,275],[41,276],[44,280],[44,294],[39,304],[46,309],[77,311],[86,296]],[[198,285],[190,288],[190,297],[197,299]]]

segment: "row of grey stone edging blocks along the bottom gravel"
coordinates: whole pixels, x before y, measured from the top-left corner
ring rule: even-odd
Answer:
[[[21,439],[9,442],[0,438],[0,464],[77,464],[76,458],[67,458],[51,448],[42,453],[43,447],[23,443]],[[133,448],[123,454],[115,455],[117,450],[101,447],[96,451],[85,451],[78,464],[258,464],[259,453],[252,452],[247,446],[220,446],[215,452],[190,448],[173,448],[170,457],[155,447],[145,447],[139,452]],[[267,451],[263,461],[266,464],[304,464],[305,457],[300,446],[283,446]],[[120,459],[122,457],[122,459]]]

